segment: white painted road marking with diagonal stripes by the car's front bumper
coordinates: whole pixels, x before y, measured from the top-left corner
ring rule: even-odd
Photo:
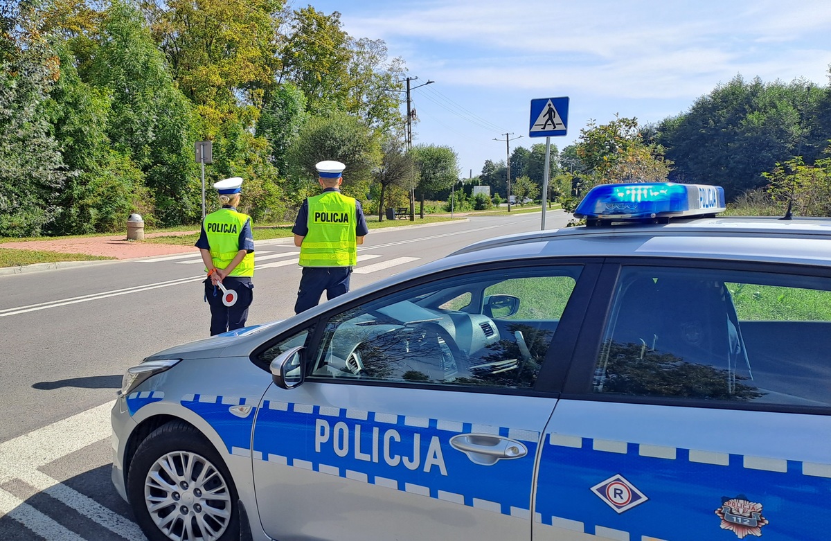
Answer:
[[[44,465],[109,438],[112,431],[111,409],[111,402],[102,404],[0,443],[0,483],[21,480],[121,538],[130,541],[145,539],[139,527],[129,519],[39,470]],[[37,509],[19,500],[15,502],[10,497],[14,498],[12,494],[0,491],[0,517],[7,514],[46,539],[81,539]]]

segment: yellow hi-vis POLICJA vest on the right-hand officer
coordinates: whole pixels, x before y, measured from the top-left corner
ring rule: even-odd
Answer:
[[[302,267],[352,267],[356,263],[355,199],[332,190],[307,199],[308,234],[300,246]]]

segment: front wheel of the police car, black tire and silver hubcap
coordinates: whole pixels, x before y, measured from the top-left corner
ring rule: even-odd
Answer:
[[[130,461],[127,495],[150,541],[239,539],[238,494],[228,467],[193,426],[154,430]]]

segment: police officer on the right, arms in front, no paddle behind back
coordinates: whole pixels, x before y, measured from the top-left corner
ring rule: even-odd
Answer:
[[[303,268],[295,313],[317,306],[324,290],[327,299],[349,291],[357,244],[369,233],[361,203],[339,189],[346,165],[326,160],[316,167],[323,193],[303,201],[292,229]]]

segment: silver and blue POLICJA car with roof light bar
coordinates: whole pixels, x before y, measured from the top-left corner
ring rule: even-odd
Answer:
[[[130,368],[150,539],[831,539],[831,220],[694,184]],[[788,217],[786,217],[788,218]]]

